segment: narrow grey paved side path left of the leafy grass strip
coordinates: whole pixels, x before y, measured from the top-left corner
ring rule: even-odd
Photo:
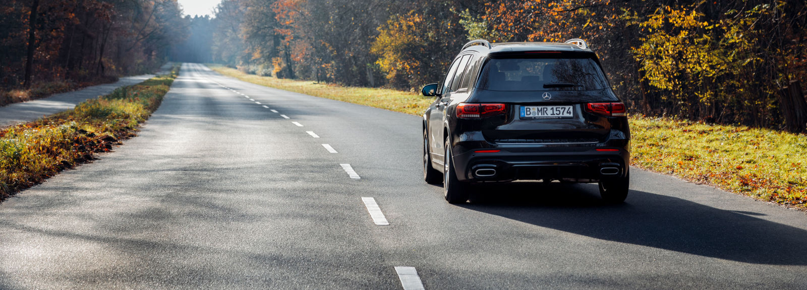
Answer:
[[[81,90],[56,94],[45,99],[36,99],[24,103],[12,103],[0,107],[0,128],[18,123],[31,122],[42,116],[66,111],[76,107],[78,103],[82,103],[86,99],[97,98],[99,95],[107,95],[111,93],[112,90],[121,86],[135,85],[153,77],[153,74],[124,77],[120,78],[118,82],[98,86],[87,86]]]

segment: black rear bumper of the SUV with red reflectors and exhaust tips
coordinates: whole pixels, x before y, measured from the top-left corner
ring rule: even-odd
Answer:
[[[625,146],[625,148],[628,148]],[[558,179],[597,182],[625,177],[630,153],[620,147],[499,147],[496,153],[469,150],[454,155],[454,172],[466,182]],[[617,149],[618,151],[597,151]]]

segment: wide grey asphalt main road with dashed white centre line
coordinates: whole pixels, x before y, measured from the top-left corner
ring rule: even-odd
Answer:
[[[451,205],[420,130],[183,65],[139,137],[0,205],[0,288],[807,285],[803,212],[635,168],[621,205],[558,183]]]

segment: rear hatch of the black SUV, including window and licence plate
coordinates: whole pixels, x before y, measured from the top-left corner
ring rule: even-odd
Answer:
[[[467,102],[504,103],[504,118],[483,122],[496,144],[584,144],[605,141],[608,116],[592,103],[619,102],[593,53],[504,55],[487,61]]]

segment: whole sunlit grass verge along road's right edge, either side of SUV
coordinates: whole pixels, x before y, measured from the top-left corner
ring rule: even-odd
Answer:
[[[222,65],[208,66],[245,82],[415,116],[433,101],[399,90],[260,77]],[[630,116],[629,120],[633,166],[807,210],[807,136],[667,118]]]

